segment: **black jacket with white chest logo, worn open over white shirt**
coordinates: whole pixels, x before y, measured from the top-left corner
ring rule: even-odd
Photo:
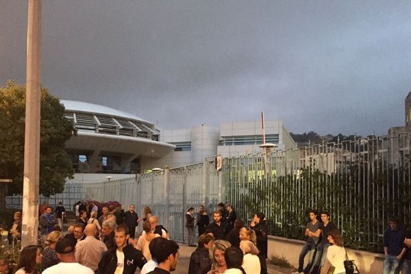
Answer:
[[[117,247],[114,247],[103,253],[99,262],[99,274],[114,274],[117,268]],[[142,269],[142,266],[147,262],[141,251],[135,249],[131,245],[123,248],[124,253],[124,269],[123,274],[134,274],[137,266]]]

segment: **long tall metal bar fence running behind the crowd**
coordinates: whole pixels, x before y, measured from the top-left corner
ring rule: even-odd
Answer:
[[[411,221],[410,140],[399,134],[225,158],[219,172],[214,158],[206,159],[119,181],[66,184],[40,201],[71,208],[81,199],[117,200],[135,203],[138,212],[150,206],[177,240],[186,239],[187,208],[200,204],[212,212],[221,201],[232,203],[246,221],[262,211],[271,234],[288,238],[303,238],[309,208],[327,210],[351,247],[380,251],[389,216]],[[6,203],[21,206],[21,197]]]

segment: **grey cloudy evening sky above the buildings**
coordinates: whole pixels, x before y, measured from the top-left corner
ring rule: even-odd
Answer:
[[[0,86],[25,83],[27,1],[0,0]],[[42,86],[160,129],[280,119],[290,132],[405,123],[411,1],[43,0]]]

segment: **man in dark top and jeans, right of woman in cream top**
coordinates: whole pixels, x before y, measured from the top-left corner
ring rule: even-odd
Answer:
[[[399,261],[407,251],[403,245],[406,235],[399,229],[398,219],[390,218],[388,223],[390,227],[384,232],[384,274],[394,274],[399,273]]]

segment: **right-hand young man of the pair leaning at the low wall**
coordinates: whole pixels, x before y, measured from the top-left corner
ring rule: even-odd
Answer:
[[[321,266],[324,265],[325,258],[327,258],[327,249],[329,247],[328,232],[333,229],[337,229],[336,225],[329,221],[329,212],[323,211],[320,216],[323,223],[319,225],[319,229],[316,233],[312,234],[312,236],[319,238],[321,235],[321,241],[316,247],[316,254],[312,264],[308,264],[306,267],[306,269],[310,270],[312,266],[312,274],[317,274],[320,272]],[[303,273],[307,274],[308,271],[306,271],[306,269],[304,269]]]

